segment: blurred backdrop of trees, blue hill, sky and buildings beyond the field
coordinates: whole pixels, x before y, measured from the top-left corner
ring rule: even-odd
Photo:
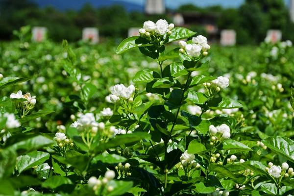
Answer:
[[[82,39],[85,27],[99,41],[126,38],[144,21],[166,19],[219,42],[233,29],[237,44],[258,44],[269,29],[294,41],[294,0],[0,0],[0,40],[14,39],[21,26],[42,26],[52,41]]]

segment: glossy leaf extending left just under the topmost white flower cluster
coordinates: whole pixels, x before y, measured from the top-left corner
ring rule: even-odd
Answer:
[[[152,46],[152,44],[149,44],[148,40],[139,36],[128,37],[118,46],[116,53],[121,54],[129,49],[145,46]]]

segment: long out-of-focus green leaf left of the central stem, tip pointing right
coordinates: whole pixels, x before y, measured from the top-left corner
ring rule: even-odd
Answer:
[[[138,142],[142,139],[150,139],[150,135],[144,132],[136,132],[132,134],[117,135],[114,139],[108,142],[102,141],[98,147],[95,147],[95,151],[104,151],[112,147],[118,147],[120,145],[127,145],[129,143]]]

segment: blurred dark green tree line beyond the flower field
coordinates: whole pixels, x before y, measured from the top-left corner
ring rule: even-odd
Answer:
[[[220,16],[217,18],[218,27],[235,29],[239,44],[263,41],[268,29],[281,29],[283,39],[294,40],[294,24],[283,0],[246,0],[239,8],[200,8],[187,4],[173,11],[217,13]],[[141,12],[127,12],[121,5],[94,8],[85,4],[78,11],[59,11],[53,7],[39,8],[28,0],[0,0],[0,40],[11,39],[12,31],[24,25],[46,26],[49,38],[54,41],[80,40],[82,28],[89,26],[98,27],[102,37],[123,38],[129,27],[140,27],[146,20],[159,18],[172,22],[171,14],[147,16]]]

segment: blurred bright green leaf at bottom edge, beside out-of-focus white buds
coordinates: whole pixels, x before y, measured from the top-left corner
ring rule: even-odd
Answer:
[[[103,196],[122,196],[124,193],[130,191],[133,186],[131,181],[114,181],[111,180],[107,183],[108,186],[112,186],[114,189],[111,192],[108,192],[107,189],[104,189]]]

